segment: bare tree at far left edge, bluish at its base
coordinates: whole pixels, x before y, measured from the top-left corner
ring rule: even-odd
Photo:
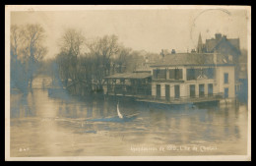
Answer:
[[[32,87],[38,63],[46,54],[43,38],[44,29],[40,25],[11,26],[11,77],[23,90]]]

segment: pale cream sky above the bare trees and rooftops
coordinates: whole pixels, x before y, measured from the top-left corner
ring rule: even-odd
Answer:
[[[112,10],[12,12],[12,25],[41,24],[46,31],[45,58],[59,52],[58,39],[65,28],[81,29],[86,38],[116,34],[133,50],[160,53],[161,49],[187,52],[196,48],[201,32],[203,42],[221,32],[227,38],[240,38],[247,45],[245,10]]]

